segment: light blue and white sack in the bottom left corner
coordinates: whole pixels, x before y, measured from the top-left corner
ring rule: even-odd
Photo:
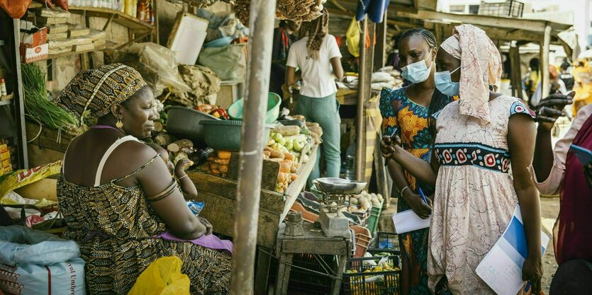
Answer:
[[[84,295],[84,260],[74,241],[25,226],[0,228],[0,289],[8,294]]]

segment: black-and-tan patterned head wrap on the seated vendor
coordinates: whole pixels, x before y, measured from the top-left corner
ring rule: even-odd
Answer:
[[[106,64],[99,69],[79,71],[57,96],[55,104],[81,119],[86,114],[99,118],[111,112],[111,105],[123,103],[144,86],[147,83],[132,67]]]

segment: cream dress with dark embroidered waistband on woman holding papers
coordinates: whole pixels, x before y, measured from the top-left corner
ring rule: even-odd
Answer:
[[[534,114],[510,96],[491,100],[488,107],[491,122],[462,115],[457,102],[447,105],[437,117],[435,149],[440,149],[440,163],[446,163],[438,172],[430,226],[428,273],[435,294],[495,294],[475,270],[508,226],[518,203],[513,180],[503,173],[504,167],[509,169],[509,163],[504,164],[509,155],[509,118]],[[458,154],[455,159],[452,152],[443,152],[449,149],[463,151],[467,161],[476,156],[477,161],[460,163]],[[479,158],[473,151],[484,156]],[[487,159],[489,154],[493,158]]]

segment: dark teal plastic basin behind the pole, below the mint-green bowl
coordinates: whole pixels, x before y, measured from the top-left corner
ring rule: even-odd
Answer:
[[[240,137],[242,121],[235,120],[204,120],[199,122],[203,126],[203,139],[212,149],[223,151],[240,151]],[[272,125],[265,125],[263,142],[269,140]]]

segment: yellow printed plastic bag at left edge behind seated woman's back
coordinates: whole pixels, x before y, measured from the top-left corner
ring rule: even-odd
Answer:
[[[0,199],[4,198],[4,195],[8,192],[16,190],[19,187],[30,185],[51,175],[60,174],[61,169],[62,161],[57,161],[44,166],[30,168],[28,170],[16,170],[2,175],[0,176]]]

